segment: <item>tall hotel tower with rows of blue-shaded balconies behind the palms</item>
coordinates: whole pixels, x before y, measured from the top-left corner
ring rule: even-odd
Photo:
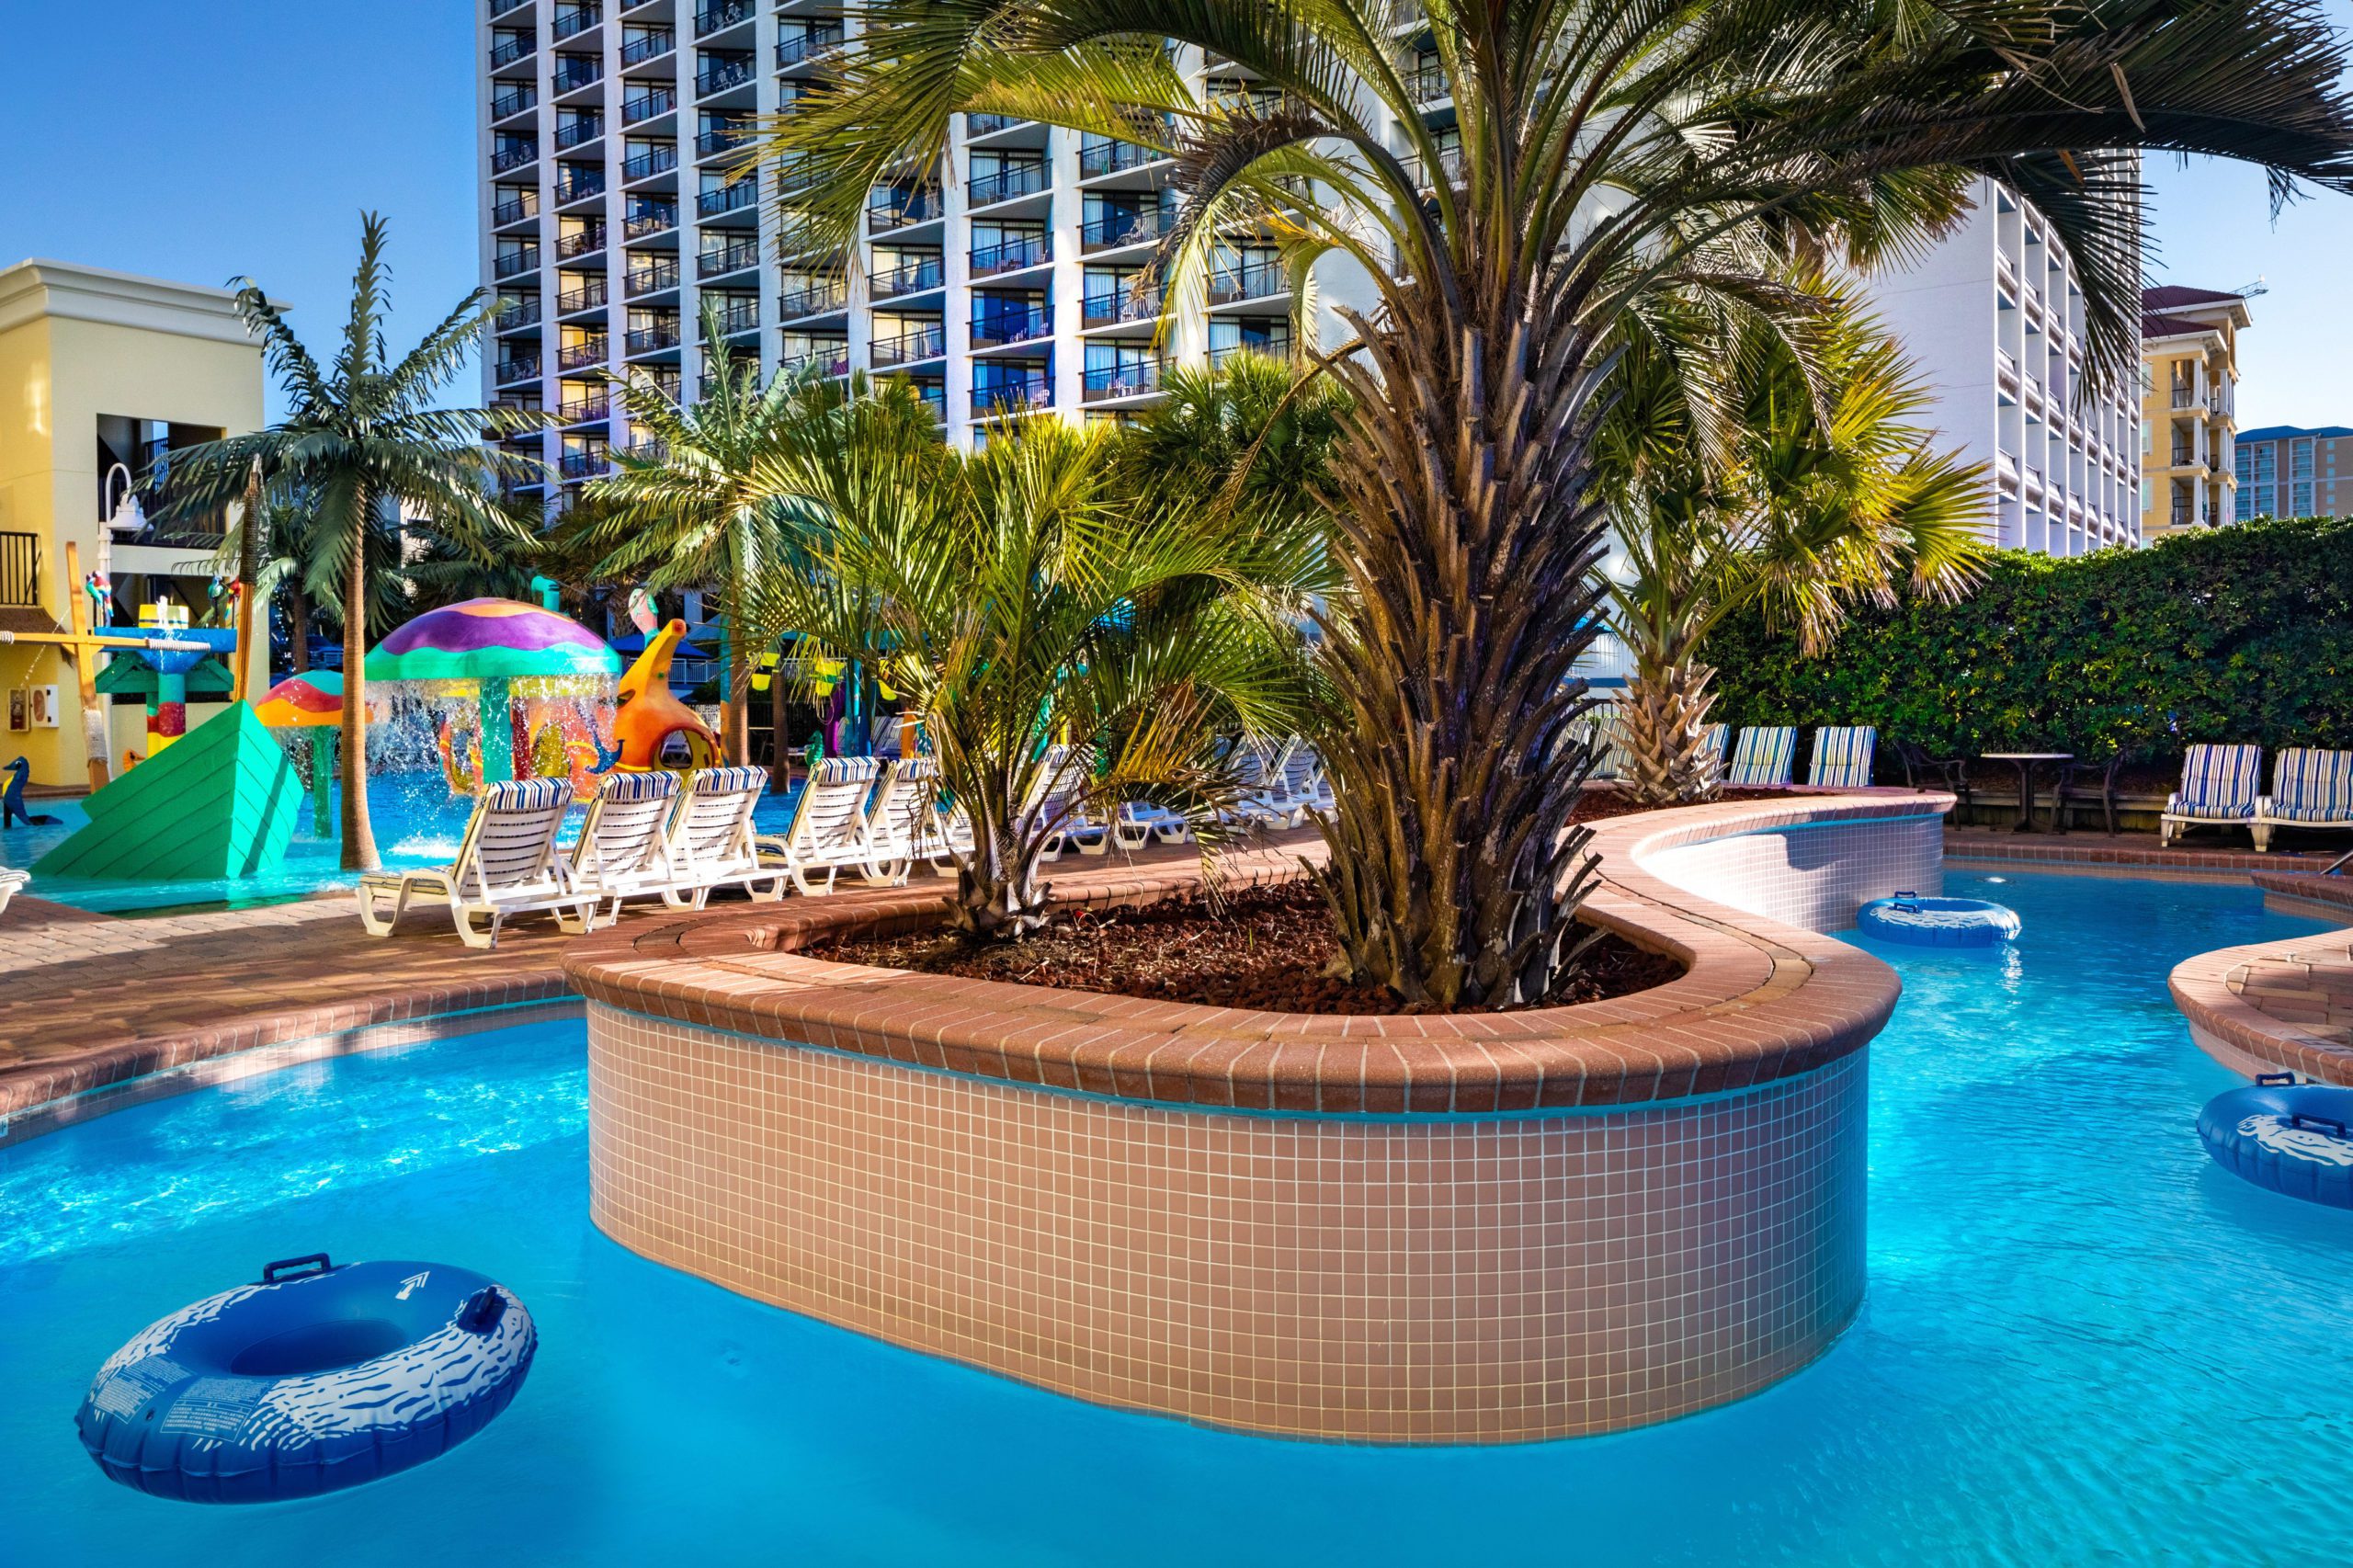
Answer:
[[[1172,162],[1033,120],[960,115],[939,179],[873,191],[852,257],[781,257],[772,172],[729,184],[732,158],[838,61],[835,0],[478,5],[482,275],[504,301],[485,381],[558,412],[567,490],[633,440],[600,370],[673,396],[718,353],[906,374],[969,443],[1016,407],[1118,417],[1169,363],[1292,341],[1273,245],[1228,245],[1181,306],[1139,299]],[[1205,94],[1252,92],[1242,75],[1198,68]],[[699,341],[711,301],[722,344]]]

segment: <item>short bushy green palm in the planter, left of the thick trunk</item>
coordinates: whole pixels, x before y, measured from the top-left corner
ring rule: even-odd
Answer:
[[[972,824],[951,918],[974,939],[1045,921],[1038,857],[1066,812],[1040,800],[1101,817],[1151,798],[1217,841],[1240,791],[1219,742],[1308,716],[1294,617],[1325,586],[1318,530],[1141,499],[1113,478],[1113,440],[1031,419],[969,457],[932,443],[892,504],[805,513],[769,579],[812,652],[873,659],[922,713]]]

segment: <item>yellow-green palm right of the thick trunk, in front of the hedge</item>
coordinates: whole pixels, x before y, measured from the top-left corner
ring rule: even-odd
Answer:
[[[1624,563],[1602,574],[1633,652],[1617,709],[1624,789],[1713,798],[1708,633],[1760,605],[1819,655],[1857,603],[1951,598],[1984,570],[1981,469],[1929,445],[1899,346],[1840,290],[1791,280],[1779,308],[1652,301],[1628,332],[1598,461]]]

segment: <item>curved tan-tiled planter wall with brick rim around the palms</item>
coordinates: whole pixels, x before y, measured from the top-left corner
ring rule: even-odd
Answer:
[[[1715,1406],[1861,1300],[1866,1045],[1897,986],[1718,902],[1765,897],[1765,862],[1689,845],[1842,824],[1809,841],[1840,845],[1807,869],[1835,906],[1929,881],[1915,824],[1941,805],[1609,822],[1593,916],[1689,972],[1501,1017],[1249,1015],[793,951],[922,918],[920,895],[598,937],[567,958],[593,1215],[744,1295],[1221,1427],[1487,1443]]]

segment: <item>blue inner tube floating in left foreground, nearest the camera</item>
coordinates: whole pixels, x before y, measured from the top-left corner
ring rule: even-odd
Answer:
[[[155,1497],[313,1497],[456,1448],[536,1349],[532,1314],[473,1269],[320,1253],[151,1323],[75,1427],[99,1469]]]

